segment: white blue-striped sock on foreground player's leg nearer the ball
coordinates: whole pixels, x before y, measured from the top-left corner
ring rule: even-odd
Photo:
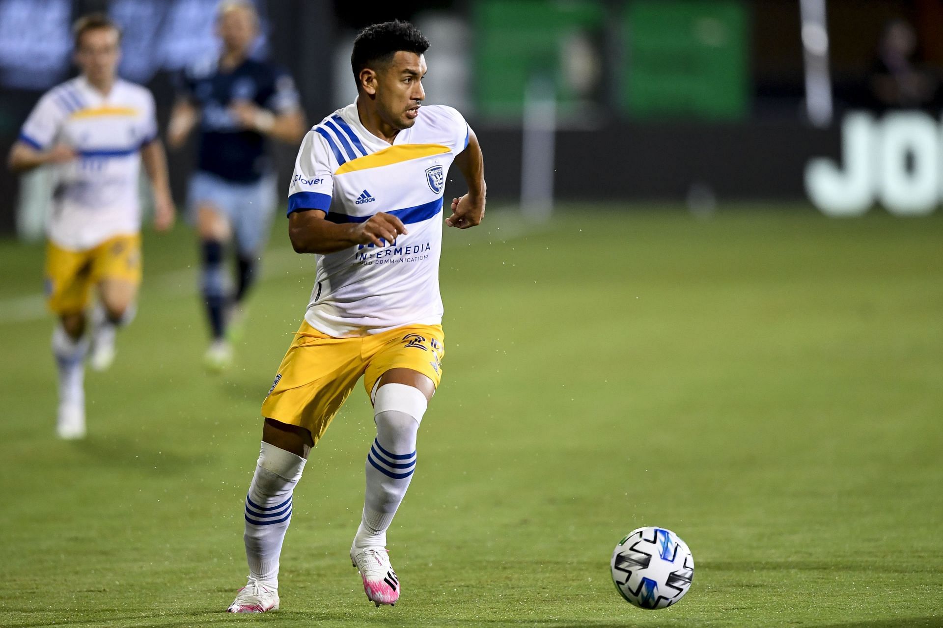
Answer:
[[[386,547],[387,529],[416,469],[416,434],[427,405],[419,388],[387,384],[376,390],[376,439],[367,454],[367,494],[355,548]]]

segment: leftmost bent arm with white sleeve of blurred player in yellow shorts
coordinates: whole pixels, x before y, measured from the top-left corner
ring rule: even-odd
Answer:
[[[9,150],[9,169],[25,173],[45,164],[74,159],[75,151],[70,146],[54,141],[67,114],[52,92],[46,93],[26,118],[20,138]]]

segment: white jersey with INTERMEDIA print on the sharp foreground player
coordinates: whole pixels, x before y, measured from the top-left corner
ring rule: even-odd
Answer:
[[[321,209],[333,223],[363,223],[381,211],[409,233],[377,247],[318,256],[305,319],[335,337],[364,336],[406,324],[438,324],[442,194],[469,127],[452,107],[424,106],[390,145],[370,133],[356,104],[308,131],[295,161],[289,213]]]

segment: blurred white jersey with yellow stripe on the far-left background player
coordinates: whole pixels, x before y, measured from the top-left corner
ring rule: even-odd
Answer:
[[[29,114],[20,140],[38,150],[58,143],[78,157],[56,166],[49,239],[83,251],[141,230],[141,146],[157,137],[154,97],[117,80],[108,96],[82,76],[47,91]]]

